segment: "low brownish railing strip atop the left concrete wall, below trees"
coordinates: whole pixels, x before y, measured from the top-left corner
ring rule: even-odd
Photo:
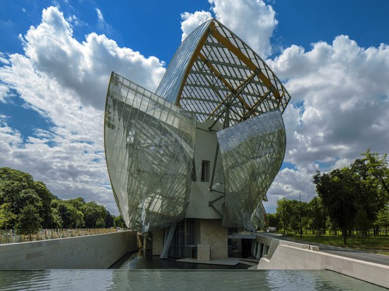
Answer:
[[[0,244],[13,244],[15,242],[34,242],[45,239],[63,239],[66,237],[83,237],[91,234],[105,234],[117,232],[121,229],[112,228],[74,228],[74,229],[53,229],[39,230],[35,234],[18,234],[16,230],[0,230]]]

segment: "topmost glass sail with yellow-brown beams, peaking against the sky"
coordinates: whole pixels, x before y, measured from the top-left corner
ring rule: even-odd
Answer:
[[[236,124],[273,109],[289,93],[243,40],[216,19],[199,25],[180,45],[156,94],[205,119]]]

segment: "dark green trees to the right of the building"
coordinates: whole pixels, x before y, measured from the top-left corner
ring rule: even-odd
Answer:
[[[387,155],[367,150],[348,167],[313,176],[318,196],[309,202],[281,199],[269,226],[284,232],[341,231],[367,233],[389,227],[389,166]]]

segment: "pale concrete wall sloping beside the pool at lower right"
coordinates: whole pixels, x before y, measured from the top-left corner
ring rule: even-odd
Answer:
[[[293,244],[293,245],[292,245]],[[272,248],[273,246],[273,248]],[[272,239],[269,252],[257,268],[291,270],[331,270],[369,283],[389,287],[389,266],[336,256],[303,248],[305,244]]]

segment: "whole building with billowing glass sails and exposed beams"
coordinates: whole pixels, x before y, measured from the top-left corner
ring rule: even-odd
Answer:
[[[113,73],[104,141],[112,191],[161,257],[239,252],[228,233],[266,223],[290,100],[269,66],[218,20],[180,45],[156,93]],[[228,248],[229,246],[229,248]]]

